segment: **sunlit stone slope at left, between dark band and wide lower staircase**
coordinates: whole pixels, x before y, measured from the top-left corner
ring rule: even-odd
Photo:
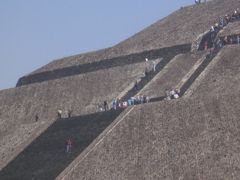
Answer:
[[[56,120],[57,109],[96,112],[98,103],[110,102],[145,68],[138,63],[0,91],[0,167]]]

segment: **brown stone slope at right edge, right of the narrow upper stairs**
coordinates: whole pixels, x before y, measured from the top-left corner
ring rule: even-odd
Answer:
[[[221,96],[240,91],[240,47],[224,47],[188,90],[187,96],[197,98]]]

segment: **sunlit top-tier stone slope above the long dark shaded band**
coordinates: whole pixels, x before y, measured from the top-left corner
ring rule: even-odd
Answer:
[[[180,8],[116,46],[96,52],[65,57],[51,62],[34,73],[60,69],[102,59],[111,59],[146,50],[192,43],[209,30],[215,21],[239,7],[239,0],[214,0],[207,4]],[[169,3],[171,6],[171,3]],[[161,7],[159,7],[159,10]]]

